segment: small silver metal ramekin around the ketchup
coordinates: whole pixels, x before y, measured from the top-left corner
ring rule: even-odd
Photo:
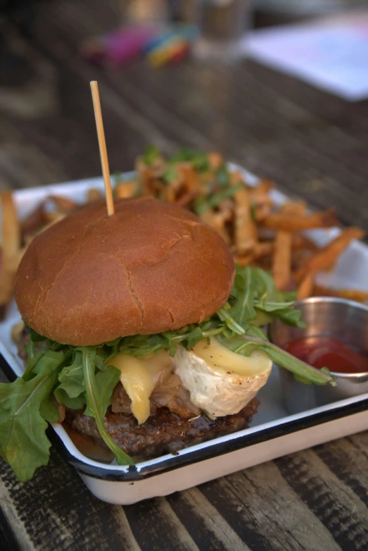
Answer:
[[[286,326],[276,319],[269,326],[269,338],[284,348],[291,340],[305,337],[331,337],[368,354],[368,307],[351,300],[315,297],[296,302],[302,311],[305,329]],[[336,386],[304,385],[286,369],[281,369],[284,404],[290,414],[330,404],[368,392],[368,372],[331,373]]]

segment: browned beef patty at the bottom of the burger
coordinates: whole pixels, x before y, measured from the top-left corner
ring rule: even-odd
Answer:
[[[205,415],[182,419],[162,407],[156,409],[142,425],[137,423],[132,414],[113,413],[109,408],[105,416],[105,426],[111,438],[127,454],[132,457],[155,457],[177,452],[217,436],[241,431],[250,423],[258,403],[254,398],[238,414],[219,417],[214,421]],[[104,446],[93,417],[84,415],[81,410],[67,409],[65,423],[77,433],[87,435]]]

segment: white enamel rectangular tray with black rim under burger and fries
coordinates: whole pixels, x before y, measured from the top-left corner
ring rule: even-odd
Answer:
[[[231,168],[239,170],[239,167]],[[256,184],[258,179],[254,175],[246,171],[243,173],[248,184]],[[125,176],[129,178],[132,173]],[[14,196],[20,216],[25,216],[50,194],[84,202],[91,187],[103,190],[102,179],[91,178],[19,190]],[[272,192],[272,196],[277,204],[287,199],[277,191]],[[307,235],[323,245],[338,233],[338,228],[331,228],[313,230]],[[354,242],[341,255],[334,272],[321,274],[319,280],[324,285],[367,290],[367,273],[368,247],[362,242]],[[0,354],[5,368],[10,367],[11,373],[16,376],[24,371],[23,362],[11,340],[11,328],[18,321],[20,315],[13,302],[6,319],[0,323]],[[5,371],[9,373],[8,369]],[[69,462],[75,466],[91,493],[108,503],[132,504],[191,488],[249,466],[368,429],[368,394],[288,415],[277,366],[272,369],[267,385],[258,392],[258,399],[260,407],[249,428],[134,466],[119,466],[115,462],[104,464],[89,459],[77,450],[61,425],[54,424],[53,430],[63,443]]]

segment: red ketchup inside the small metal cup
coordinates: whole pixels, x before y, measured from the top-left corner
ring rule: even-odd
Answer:
[[[330,337],[308,337],[288,342],[286,352],[321,369],[328,367],[335,373],[364,373],[368,371],[368,357],[356,352],[343,342]]]

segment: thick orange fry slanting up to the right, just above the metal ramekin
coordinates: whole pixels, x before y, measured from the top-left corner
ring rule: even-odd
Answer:
[[[303,266],[296,271],[296,281],[300,282],[307,273],[317,273],[322,270],[328,270],[331,266],[334,266],[338,256],[343,250],[348,247],[348,244],[356,239],[362,239],[364,237],[364,230],[360,228],[345,228],[341,234],[338,235],[333,241],[317,249]]]

